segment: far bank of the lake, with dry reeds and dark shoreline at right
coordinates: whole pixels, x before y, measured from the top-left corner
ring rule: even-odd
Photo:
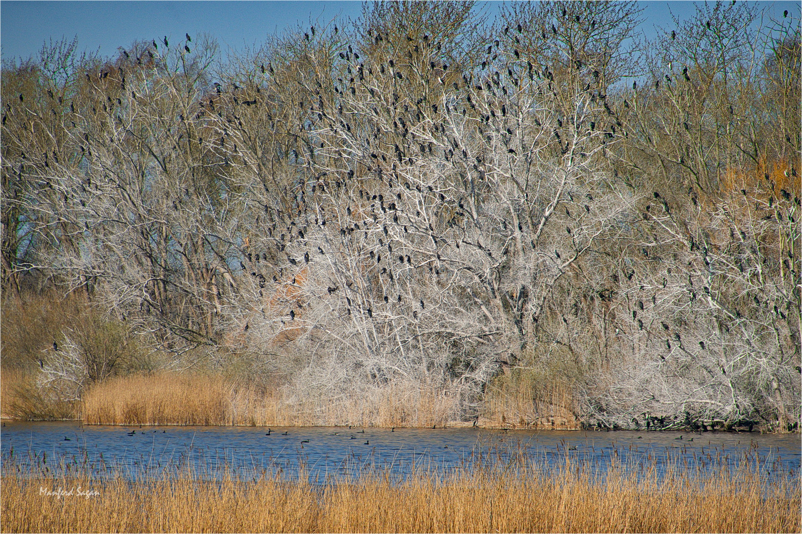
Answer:
[[[437,388],[387,386],[371,394],[297,398],[292,390],[266,387],[220,374],[133,374],[88,387],[73,403],[48,400],[30,380],[4,374],[2,419],[76,420],[88,425],[262,426],[262,427],[477,427],[543,431],[624,430],[577,416],[568,390],[560,386],[498,387],[474,415],[466,417]],[[459,417],[457,417],[459,416]],[[798,431],[796,424],[751,420],[695,420],[652,414],[634,418],[626,430]]]

